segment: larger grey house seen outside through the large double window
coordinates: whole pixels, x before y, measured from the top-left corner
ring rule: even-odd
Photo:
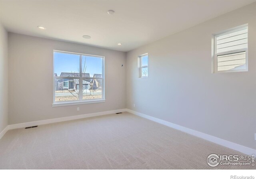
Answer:
[[[54,74],[55,75],[55,74]],[[61,73],[60,77],[78,77],[79,73]],[[82,77],[90,77],[90,73],[82,73]],[[83,79],[83,90],[91,88],[91,80]],[[55,90],[79,90],[79,79],[55,79]]]

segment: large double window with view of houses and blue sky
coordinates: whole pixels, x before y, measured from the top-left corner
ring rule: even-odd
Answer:
[[[52,106],[104,102],[104,57],[54,51]]]

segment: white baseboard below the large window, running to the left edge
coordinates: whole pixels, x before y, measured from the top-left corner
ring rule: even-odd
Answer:
[[[111,111],[104,111],[104,112],[95,112],[95,113],[90,113],[90,114],[81,114],[77,116],[68,116],[68,117],[62,117],[62,118],[54,118],[54,119],[47,119],[47,120],[38,120],[38,121],[33,121],[33,122],[24,122],[24,123],[19,123],[19,124],[11,124],[8,125],[0,134],[0,138],[4,136],[4,134],[11,129],[17,129],[17,128],[25,128],[29,126],[38,126],[38,125],[43,125],[43,124],[50,124],[50,123],[55,123],[55,122],[63,122],[63,121],[68,121],[68,120],[76,120],[76,119],[82,119],[82,118],[89,118],[89,117],[94,117],[94,116],[102,116],[106,114],[114,114],[117,112],[125,112],[126,109],[118,109],[118,110],[111,110]]]

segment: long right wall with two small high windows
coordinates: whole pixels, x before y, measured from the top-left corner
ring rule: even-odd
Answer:
[[[212,74],[212,34],[246,23],[249,71]],[[127,108],[256,149],[256,3],[132,50],[126,66]]]

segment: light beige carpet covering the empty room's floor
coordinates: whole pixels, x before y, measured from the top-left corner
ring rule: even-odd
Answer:
[[[0,169],[255,169],[210,167],[211,153],[242,155],[124,112],[9,130]]]

